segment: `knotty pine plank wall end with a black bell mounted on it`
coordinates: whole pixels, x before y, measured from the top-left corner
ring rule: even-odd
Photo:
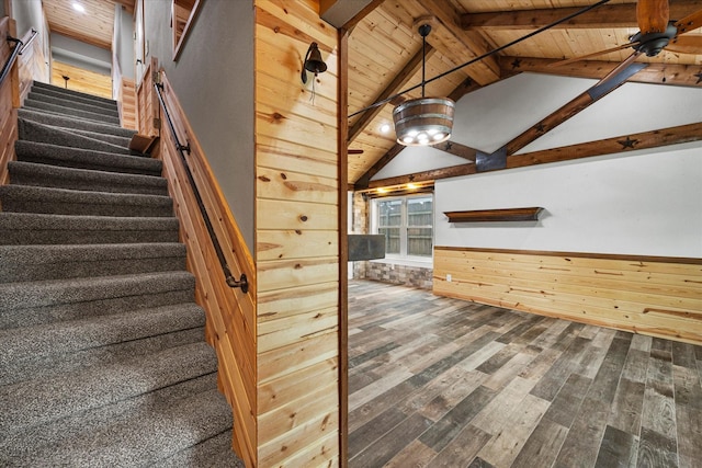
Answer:
[[[337,31],[315,1],[254,8],[258,461],[338,466]],[[313,41],[328,70],[305,85]]]

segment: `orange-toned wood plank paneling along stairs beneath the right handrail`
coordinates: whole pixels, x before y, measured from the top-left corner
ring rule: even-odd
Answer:
[[[188,269],[196,277],[196,300],[207,315],[207,341],[217,351],[219,387],[233,408],[233,445],[247,466],[253,467],[257,466],[256,269],[168,77],[161,71],[160,78],[178,137],[182,145],[190,145],[186,158],[227,263],[236,278],[244,273],[249,282],[248,294],[227,286],[170,128],[163,122],[160,144],[163,174],[180,220],[181,241],[188,246]]]

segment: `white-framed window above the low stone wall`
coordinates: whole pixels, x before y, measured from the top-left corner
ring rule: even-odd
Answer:
[[[433,247],[433,198],[414,195],[373,201],[373,230],[385,236],[385,254],[428,260]]]

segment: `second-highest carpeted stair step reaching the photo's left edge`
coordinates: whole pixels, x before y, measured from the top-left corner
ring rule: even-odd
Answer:
[[[178,242],[178,218],[0,213],[0,246]]]

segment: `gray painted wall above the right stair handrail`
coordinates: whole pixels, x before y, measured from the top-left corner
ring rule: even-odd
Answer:
[[[166,70],[229,208],[254,252],[253,4],[206,0],[173,61],[170,2],[145,1],[147,57]]]

